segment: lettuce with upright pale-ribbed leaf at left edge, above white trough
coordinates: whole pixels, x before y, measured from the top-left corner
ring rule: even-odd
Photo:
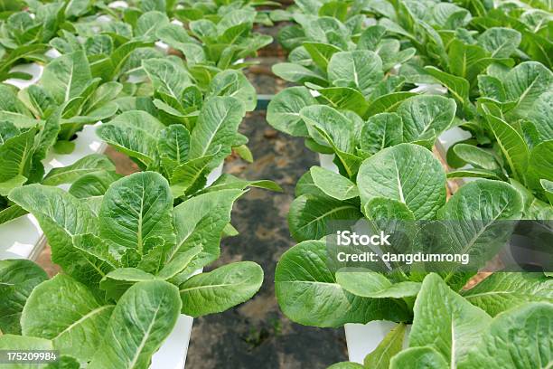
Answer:
[[[38,84],[19,91],[6,86],[2,89],[0,117],[16,128],[40,126],[61,107],[58,148],[67,152],[72,150],[70,139],[84,125],[117,113],[112,99],[121,85],[93,78],[84,52],[72,52],[49,62]]]

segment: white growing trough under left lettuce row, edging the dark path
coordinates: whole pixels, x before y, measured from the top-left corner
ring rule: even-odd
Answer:
[[[223,164],[211,171],[207,178],[206,186],[211,185],[222,174]],[[201,273],[197,270],[194,274]],[[186,355],[188,353],[188,344],[192,334],[193,318],[181,314],[173,328],[173,332],[164,341],[164,344],[152,356],[150,369],[184,369]]]

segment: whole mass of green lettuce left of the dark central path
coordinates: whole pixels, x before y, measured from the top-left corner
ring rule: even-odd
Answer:
[[[63,272],[0,261],[0,347],[59,350],[51,367],[147,368],[180,314],[224,311],[263,281],[249,261],[199,271],[237,234],[230,212],[248,187],[280,191],[233,175],[208,182],[233,151],[253,160],[239,124],[257,97],[240,69],[271,42],[252,32],[270,22],[255,6],[271,4],[54,4],[58,28],[34,16],[45,6],[35,2],[3,21],[29,34],[5,58],[40,44],[40,57],[19,60],[47,64],[37,84],[2,85],[0,165],[3,222],[32,213]],[[140,173],[122,177],[100,154],[45,173],[48,152],[70,152],[98,121],[98,137]]]

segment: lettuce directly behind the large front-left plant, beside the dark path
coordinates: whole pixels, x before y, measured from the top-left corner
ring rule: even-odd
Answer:
[[[98,136],[131,157],[143,170],[164,175],[175,198],[187,197],[204,191],[211,171],[222,165],[233,147],[247,142],[238,133],[244,114],[244,104],[239,99],[216,96],[203,102],[193,125],[164,126],[145,111],[131,110],[98,128]],[[231,175],[221,177],[214,185],[256,185],[280,191],[269,181],[249,182]]]

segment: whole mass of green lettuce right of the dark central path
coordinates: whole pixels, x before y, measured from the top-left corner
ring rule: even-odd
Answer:
[[[336,166],[314,166],[296,185],[288,223],[300,243],[277,265],[278,303],[308,326],[399,323],[364,365],[333,367],[550,361],[547,272],[495,272],[469,288],[476,269],[363,270],[329,257],[327,237],[344,222],[395,226],[414,239],[432,228],[443,237],[419,241],[420,250],[485,261],[510,233],[497,222],[533,219],[550,229],[552,18],[548,2],[531,5],[298,0],[273,12],[273,19],[295,23],[279,34],[289,55],[273,71],[300,86],[275,97],[267,121],[333,155]],[[446,159],[457,169],[446,173],[432,148],[451,128],[471,138],[450,148]],[[448,177],[478,178],[447,200]]]

